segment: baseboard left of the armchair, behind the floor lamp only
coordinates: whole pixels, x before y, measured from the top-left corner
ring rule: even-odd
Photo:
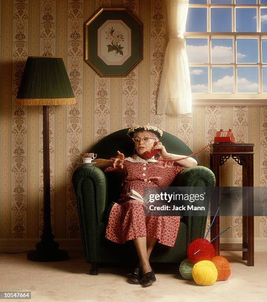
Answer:
[[[35,244],[39,238],[0,238],[0,253],[2,252],[23,252],[35,250]],[[59,248],[71,253],[83,253],[82,241],[79,238],[55,238]]]

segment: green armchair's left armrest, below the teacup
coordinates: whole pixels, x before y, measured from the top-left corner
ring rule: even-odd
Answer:
[[[105,173],[95,166],[78,167],[72,175],[82,242],[87,262],[97,259],[101,222],[108,204]],[[90,242],[90,244],[89,244]]]

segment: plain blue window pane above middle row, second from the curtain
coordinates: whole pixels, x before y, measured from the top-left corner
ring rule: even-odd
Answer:
[[[210,9],[211,32],[232,32],[231,8]]]

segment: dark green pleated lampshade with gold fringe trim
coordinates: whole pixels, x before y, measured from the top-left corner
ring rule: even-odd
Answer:
[[[17,105],[76,104],[67,70],[61,57],[28,57]]]

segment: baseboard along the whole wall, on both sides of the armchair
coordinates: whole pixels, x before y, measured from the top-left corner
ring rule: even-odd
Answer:
[[[39,242],[38,238],[0,238],[0,253],[2,252],[22,252],[28,250],[34,250],[35,244]],[[78,238],[65,239],[56,238],[56,242],[59,243],[60,249],[66,250],[72,253],[83,253],[82,241]],[[241,238],[221,238],[221,243],[241,243]],[[255,252],[267,252],[267,238],[257,237],[254,238]]]

